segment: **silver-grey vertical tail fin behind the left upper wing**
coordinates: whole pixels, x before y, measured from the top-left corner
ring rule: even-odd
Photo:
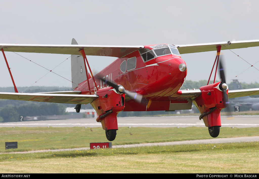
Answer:
[[[72,39],[72,45],[78,45],[76,40]],[[84,67],[84,58],[81,55],[71,56],[71,75],[72,75],[72,89],[78,87],[78,84],[87,79]]]

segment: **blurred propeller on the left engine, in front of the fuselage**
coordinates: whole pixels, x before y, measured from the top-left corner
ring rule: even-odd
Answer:
[[[118,84],[115,84],[115,83],[112,83],[110,81],[107,81],[105,79],[102,79],[100,78],[102,81],[105,82],[105,84],[108,84],[109,86],[113,87],[118,93],[122,94],[126,94],[128,95],[130,98],[132,98],[133,100],[137,101],[137,102],[141,102],[142,100],[142,95],[140,94],[137,94],[136,92],[133,92],[133,91],[128,91],[128,90],[125,90],[123,86],[121,85],[118,85]]]

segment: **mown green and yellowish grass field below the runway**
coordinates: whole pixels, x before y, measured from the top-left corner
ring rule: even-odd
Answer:
[[[0,151],[89,147],[107,142],[102,128],[0,128]],[[204,127],[122,127],[112,145],[211,138]],[[130,135],[129,133],[133,135]],[[258,136],[259,128],[225,128],[219,137]],[[4,142],[18,142],[5,150]],[[0,155],[1,173],[258,173],[258,142],[72,150]]]

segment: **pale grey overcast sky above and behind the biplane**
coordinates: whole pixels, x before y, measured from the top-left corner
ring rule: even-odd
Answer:
[[[71,44],[72,38],[75,38],[78,44],[84,45],[181,45],[252,40],[259,39],[258,7],[257,0],[10,0],[1,2],[0,6],[0,43]],[[259,47],[232,51],[251,65],[259,61]],[[232,79],[259,82],[259,62],[254,65],[255,69],[230,50],[222,52],[225,54],[227,82]],[[71,80],[69,55],[18,54]],[[19,55],[6,52],[18,87],[71,87],[67,79],[48,73],[46,69]],[[216,52],[183,54],[188,71],[186,80],[208,80],[215,55]],[[97,71],[115,59],[88,56],[92,70]],[[0,70],[0,87],[12,86],[2,53]]]

